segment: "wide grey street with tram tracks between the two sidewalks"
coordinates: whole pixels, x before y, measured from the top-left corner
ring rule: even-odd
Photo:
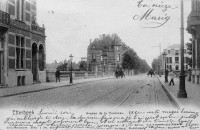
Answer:
[[[69,108],[96,107],[145,108],[173,107],[156,77],[127,76],[77,84],[0,99],[1,107]]]

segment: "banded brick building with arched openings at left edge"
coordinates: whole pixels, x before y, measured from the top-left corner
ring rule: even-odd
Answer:
[[[0,0],[0,84],[46,82],[45,28],[36,0]]]

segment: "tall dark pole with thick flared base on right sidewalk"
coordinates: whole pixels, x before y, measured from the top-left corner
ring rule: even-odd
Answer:
[[[180,73],[180,80],[179,80],[179,91],[178,91],[178,98],[187,98],[187,93],[185,90],[185,72],[184,72],[184,20],[183,20],[183,0],[181,0],[181,73]]]

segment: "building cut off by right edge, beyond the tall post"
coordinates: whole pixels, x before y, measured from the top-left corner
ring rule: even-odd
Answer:
[[[191,0],[192,9],[187,19],[187,31],[192,35],[192,81],[200,78],[200,0]]]

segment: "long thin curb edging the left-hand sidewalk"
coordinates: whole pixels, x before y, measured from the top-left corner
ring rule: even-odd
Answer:
[[[50,87],[50,88],[44,88],[44,89],[37,89],[37,90],[19,92],[19,93],[14,93],[14,94],[7,94],[7,95],[0,96],[0,98],[6,98],[6,97],[11,97],[11,96],[18,96],[18,95],[23,95],[23,94],[27,94],[27,93],[41,92],[41,91],[46,91],[46,90],[51,90],[51,89],[56,89],[56,88],[61,88],[61,87],[66,87],[66,86],[75,86],[75,85],[79,85],[79,84],[84,84],[84,83],[89,83],[89,82],[94,82],[94,81],[107,80],[107,79],[113,79],[113,78],[114,77],[109,77],[109,78],[106,78],[106,79],[85,81],[85,82],[80,82],[80,83],[72,83],[72,84],[61,85],[61,86],[56,86],[56,87]]]

